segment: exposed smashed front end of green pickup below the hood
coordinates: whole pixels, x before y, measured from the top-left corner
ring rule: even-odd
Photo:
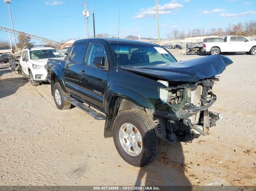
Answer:
[[[210,127],[221,118],[220,113],[208,111],[217,97],[212,92],[216,77],[207,78],[196,83],[186,83],[159,88],[159,96],[169,110],[154,110],[158,137],[167,142],[191,142],[200,135],[209,135]],[[159,81],[161,83],[166,83]]]

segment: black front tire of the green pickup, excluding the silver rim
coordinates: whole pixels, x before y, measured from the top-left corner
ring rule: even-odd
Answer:
[[[141,135],[142,148],[137,156],[128,154],[121,145],[119,130],[125,123],[131,123],[138,129]],[[152,163],[161,152],[160,138],[155,134],[152,119],[142,110],[131,109],[118,114],[113,124],[113,140],[120,156],[129,164],[137,167],[143,167]],[[128,139],[126,140],[127,142],[129,141]]]

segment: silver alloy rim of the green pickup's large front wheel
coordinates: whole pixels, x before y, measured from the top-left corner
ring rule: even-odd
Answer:
[[[142,151],[141,134],[131,123],[124,123],[120,127],[119,141],[125,152],[131,156],[138,156]]]

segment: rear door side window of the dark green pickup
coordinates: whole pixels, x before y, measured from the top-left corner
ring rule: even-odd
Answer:
[[[77,43],[72,49],[70,59],[74,62],[81,63],[86,51],[87,43]]]

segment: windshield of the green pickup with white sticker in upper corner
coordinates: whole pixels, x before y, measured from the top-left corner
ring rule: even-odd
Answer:
[[[118,66],[148,66],[177,62],[165,49],[158,45],[136,43],[110,43]]]

